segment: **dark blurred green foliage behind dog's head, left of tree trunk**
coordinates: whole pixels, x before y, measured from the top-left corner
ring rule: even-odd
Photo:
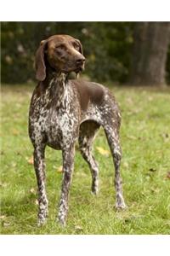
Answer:
[[[127,81],[133,23],[129,22],[3,22],[2,80],[23,83],[35,79],[33,62],[39,42],[53,34],[82,41],[85,74],[98,81]]]

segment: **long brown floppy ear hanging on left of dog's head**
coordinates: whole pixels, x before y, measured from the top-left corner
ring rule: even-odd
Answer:
[[[39,81],[43,81],[46,78],[46,66],[44,60],[45,49],[47,47],[48,40],[42,40],[39,48],[36,52],[36,78]]]

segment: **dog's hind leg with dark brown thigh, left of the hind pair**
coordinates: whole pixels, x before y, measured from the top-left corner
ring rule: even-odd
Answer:
[[[94,142],[96,131],[99,130],[99,126],[100,125],[94,121],[82,123],[78,140],[82,157],[88,162],[92,174],[92,192],[94,195],[96,195],[99,190],[99,167],[92,154],[92,143]]]

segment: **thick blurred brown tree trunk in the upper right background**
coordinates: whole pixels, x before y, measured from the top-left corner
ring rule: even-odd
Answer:
[[[165,84],[170,22],[139,22],[134,27],[131,82],[137,85]]]

